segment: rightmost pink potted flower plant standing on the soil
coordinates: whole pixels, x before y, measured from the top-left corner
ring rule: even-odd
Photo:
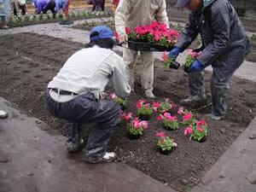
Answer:
[[[195,125],[189,125],[185,128],[184,135],[190,135],[190,139],[197,142],[205,142],[207,139],[207,122],[204,119],[195,120]]]

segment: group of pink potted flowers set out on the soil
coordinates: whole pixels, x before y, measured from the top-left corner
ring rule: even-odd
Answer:
[[[110,98],[120,105],[124,105],[124,101],[115,94],[110,94]],[[167,131],[176,131],[179,129],[179,125],[183,125],[185,126],[184,135],[189,136],[189,140],[194,139],[197,142],[204,142],[207,138],[207,122],[204,119],[196,119],[192,112],[184,110],[183,107],[177,108],[177,111],[175,111],[175,105],[169,98],[166,98],[163,102],[152,103],[138,100],[136,108],[137,114],[135,117],[131,112],[123,111],[121,113],[121,119],[128,122],[128,135],[131,139],[143,136],[143,131],[148,129],[148,120],[152,113],[158,113],[157,119],[160,120],[163,128]],[[174,113],[177,113],[177,116],[173,115]],[[181,120],[179,121],[178,118]],[[172,138],[167,137],[165,131],[157,132],[156,136],[158,137],[157,148],[161,154],[169,154],[172,148],[177,147],[177,143],[174,143]]]

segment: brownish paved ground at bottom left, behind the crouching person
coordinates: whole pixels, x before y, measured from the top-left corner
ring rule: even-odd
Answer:
[[[44,122],[0,98],[1,192],[175,192],[123,163],[91,165],[68,155],[66,138],[49,135]]]

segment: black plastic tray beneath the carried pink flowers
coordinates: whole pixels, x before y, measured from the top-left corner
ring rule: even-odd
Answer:
[[[133,50],[142,50],[142,51],[170,51],[172,47],[166,48],[164,46],[148,44],[144,42],[135,42],[128,41],[128,48]]]

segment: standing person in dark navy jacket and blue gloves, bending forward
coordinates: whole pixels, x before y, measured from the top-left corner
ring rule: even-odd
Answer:
[[[169,53],[176,58],[201,33],[203,50],[189,68],[190,96],[183,105],[206,98],[203,69],[212,65],[212,119],[224,119],[229,81],[250,51],[250,44],[236,10],[228,0],[178,0],[177,7],[191,11],[185,30]]]

